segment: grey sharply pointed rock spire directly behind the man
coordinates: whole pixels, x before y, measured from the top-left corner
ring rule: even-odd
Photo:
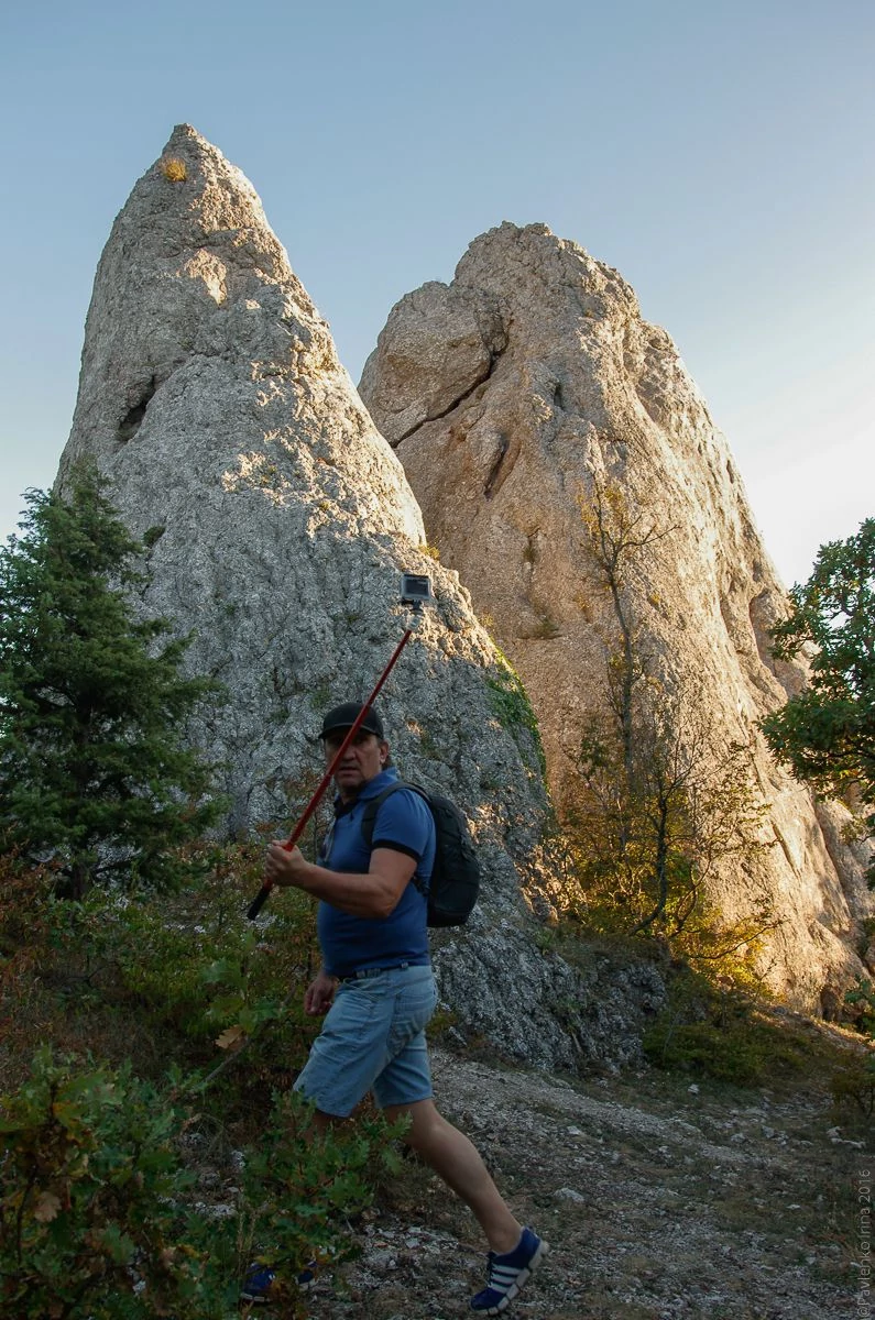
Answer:
[[[293,818],[321,776],[323,711],[365,697],[403,632],[399,573],[431,574],[438,606],[379,706],[404,776],[459,801],[484,858],[469,927],[435,941],[444,997],[459,1030],[529,1063],[634,1057],[661,981],[537,948],[551,880],[522,694],[457,576],[423,553],[402,466],[252,186],[188,125],[98,268],[61,487],[81,457],[148,545],[143,610],[194,630],[190,668],[226,688],[189,735],[223,764],[231,832]]]

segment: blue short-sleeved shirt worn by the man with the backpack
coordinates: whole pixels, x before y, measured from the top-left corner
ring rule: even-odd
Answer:
[[[371,849],[381,846],[395,847],[416,861],[414,876],[389,916],[352,916],[329,903],[319,904],[319,942],[325,970],[334,977],[348,977],[367,968],[398,966],[399,962],[414,966],[430,962],[427,903],[414,883],[415,879],[427,891],[435,865],[435,821],[428,804],[412,789],[399,788],[377,812],[370,847],[362,834],[367,801],[397,781],[398,771],[383,770],[363,785],[354,803],[337,800],[334,804],[336,820],[323,863],[329,870],[365,875]]]

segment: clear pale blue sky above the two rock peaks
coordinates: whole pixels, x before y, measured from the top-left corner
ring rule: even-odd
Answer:
[[[0,17],[0,537],[67,437],[100,249],[173,124],[262,195],[354,380],[501,220],[616,267],[789,583],[875,515],[872,0],[44,0]]]

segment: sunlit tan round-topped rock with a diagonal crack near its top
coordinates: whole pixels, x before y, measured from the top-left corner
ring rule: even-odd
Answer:
[[[749,748],[768,804],[763,851],[722,866],[711,898],[730,920],[768,903],[780,925],[760,965],[817,1010],[862,970],[866,858],[841,841],[842,809],[822,805],[818,820],[757,731],[804,672],[771,656],[785,593],[669,335],[641,318],[616,271],[545,226],[505,223],[471,244],[452,284],[426,284],[393,309],[360,389],[428,540],[531,694],[563,805],[582,738],[607,709],[620,632],[583,511],[616,496],[654,529],[623,585],[640,648],[707,726],[718,759],[720,747]]]

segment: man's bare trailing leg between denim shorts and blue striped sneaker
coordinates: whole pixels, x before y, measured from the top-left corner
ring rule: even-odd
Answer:
[[[410,1114],[410,1129],[404,1134],[407,1146],[471,1206],[490,1249],[498,1254],[513,1251],[522,1225],[510,1213],[476,1147],[438,1113],[434,1100],[387,1105],[383,1113],[391,1122]]]

